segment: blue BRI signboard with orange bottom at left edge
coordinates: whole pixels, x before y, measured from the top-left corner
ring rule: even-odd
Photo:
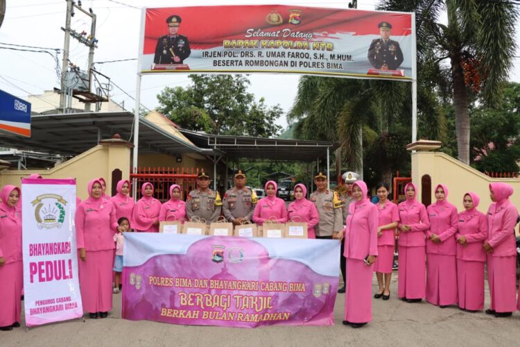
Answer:
[[[31,103],[0,90],[0,130],[31,137]]]

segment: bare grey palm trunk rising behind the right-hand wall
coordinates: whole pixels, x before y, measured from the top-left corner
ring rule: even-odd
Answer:
[[[451,56],[453,78],[453,107],[455,108],[455,130],[457,134],[458,160],[469,164],[469,108],[460,53]]]

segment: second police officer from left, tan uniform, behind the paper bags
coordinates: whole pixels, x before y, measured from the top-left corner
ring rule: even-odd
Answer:
[[[245,172],[239,170],[234,175],[235,186],[224,194],[222,212],[227,221],[239,226],[244,219],[252,221],[257,194],[245,187]]]

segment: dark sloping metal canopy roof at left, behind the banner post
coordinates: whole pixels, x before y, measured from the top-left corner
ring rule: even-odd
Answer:
[[[133,141],[134,115],[130,112],[84,112],[31,117],[31,138],[1,133],[0,146],[60,155],[78,155],[119,134]],[[139,119],[139,154],[179,155],[198,153],[220,155],[219,151],[201,149],[141,117]]]

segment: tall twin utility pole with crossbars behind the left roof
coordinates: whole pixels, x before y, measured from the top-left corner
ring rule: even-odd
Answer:
[[[63,63],[62,63],[62,76],[61,76],[61,92],[60,92],[60,109],[65,110],[66,105],[66,94],[67,94],[67,73],[69,67],[69,47],[70,47],[70,39],[71,36],[78,40],[80,43],[85,44],[85,46],[89,46],[89,63],[87,68],[87,76],[88,76],[88,87],[89,93],[92,92],[92,64],[94,62],[94,49],[98,48],[96,46],[96,15],[92,11],[92,8],[89,10],[84,10],[81,7],[81,1],[78,0],[78,3],[73,0],[65,0],[67,1],[67,17],[65,18],[65,27],[62,28],[62,31],[65,32],[65,41],[63,45]],[[74,9],[83,12],[85,15],[91,18],[91,26],[90,26],[90,35],[85,37],[87,33],[83,31],[83,33],[78,33],[77,31],[71,29],[71,18],[74,17]],[[72,94],[72,93],[71,93]],[[85,110],[90,110],[90,103],[85,103]]]

